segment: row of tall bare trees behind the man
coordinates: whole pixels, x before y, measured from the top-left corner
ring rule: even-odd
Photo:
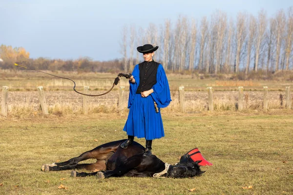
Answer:
[[[200,20],[179,16],[175,23],[149,23],[146,29],[125,25],[121,54],[126,72],[139,62],[136,46],[146,43],[160,46],[155,60],[171,71],[247,75],[259,70],[292,70],[293,7],[281,9],[271,18],[265,10],[257,16],[239,12],[236,18],[217,10]]]

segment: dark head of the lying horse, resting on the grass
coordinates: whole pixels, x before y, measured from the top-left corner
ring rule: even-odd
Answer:
[[[193,177],[193,176],[200,176],[201,174],[205,173],[205,171],[201,171],[199,168],[198,163],[201,160],[195,162],[185,162],[185,163],[177,163],[173,166],[170,166],[168,169],[168,176],[174,178],[183,178],[183,177]]]

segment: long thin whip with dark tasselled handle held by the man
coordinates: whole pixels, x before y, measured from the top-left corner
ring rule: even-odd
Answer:
[[[25,67],[25,66],[23,66],[23,65],[20,65],[18,62],[15,62],[14,65],[16,65],[16,66],[21,66],[21,67],[23,67],[23,68],[27,68],[27,67]],[[119,73],[118,76],[115,78],[114,83],[113,83],[111,89],[109,89],[107,92],[105,92],[105,93],[103,93],[103,94],[91,95],[91,94],[84,94],[84,93],[81,93],[81,92],[76,91],[76,89],[75,89],[76,84],[75,84],[74,80],[72,80],[72,79],[70,79],[70,78],[59,77],[59,76],[52,75],[52,74],[49,74],[49,73],[45,73],[45,72],[42,72],[42,71],[39,71],[39,70],[35,70],[35,69],[32,69],[32,68],[27,68],[27,69],[30,69],[30,70],[33,70],[33,71],[37,71],[37,72],[40,72],[40,73],[44,73],[44,74],[46,74],[46,75],[50,75],[50,76],[53,76],[53,77],[64,78],[64,79],[67,79],[67,80],[71,80],[71,81],[74,83],[73,90],[74,90],[76,93],[81,94],[81,95],[84,95],[84,96],[104,96],[104,95],[106,95],[107,93],[109,93],[109,92],[114,88],[115,85],[117,85],[117,84],[119,83],[119,81],[120,81],[120,78],[119,78],[119,77],[130,78],[130,77],[132,76],[130,73],[129,73],[129,74]]]

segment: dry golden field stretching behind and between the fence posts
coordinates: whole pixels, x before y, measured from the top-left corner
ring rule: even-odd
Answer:
[[[38,116],[40,105],[37,86],[44,87],[44,93],[50,114],[63,116],[68,114],[80,114],[82,112],[83,96],[72,91],[72,82],[66,79],[54,78],[41,73],[4,71],[0,70],[0,86],[9,86],[8,110],[11,117],[28,118]],[[101,94],[107,91],[113,84],[117,75],[110,73],[55,72],[55,75],[72,78],[76,81],[76,89],[83,91],[83,86],[90,87],[90,94]],[[285,87],[292,86],[287,81],[265,80],[216,80],[200,79],[195,74],[167,75],[171,89],[172,102],[163,109],[163,113],[180,112],[179,86],[185,86],[185,112],[197,113],[208,110],[207,86],[213,86],[214,109],[220,111],[236,111],[238,102],[238,87],[244,87],[244,109],[262,110],[263,86],[269,87],[269,109],[283,109],[285,98],[280,100],[280,95],[285,96]],[[120,84],[115,86],[109,94],[89,98],[89,114],[118,112],[118,89],[126,86],[123,109],[127,112],[128,80],[122,78]],[[0,94],[0,99],[2,94]],[[291,95],[293,101],[293,95]],[[292,102],[293,104],[293,102]]]

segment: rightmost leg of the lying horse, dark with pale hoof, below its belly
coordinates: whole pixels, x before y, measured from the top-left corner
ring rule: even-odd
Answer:
[[[98,172],[97,177],[104,179],[111,176],[124,176],[133,168],[139,166],[142,162],[142,155],[131,156],[120,165],[118,165],[114,170]]]

